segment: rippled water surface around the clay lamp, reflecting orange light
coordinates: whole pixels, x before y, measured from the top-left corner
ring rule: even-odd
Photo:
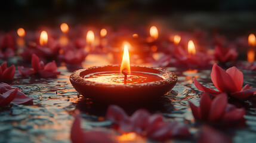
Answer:
[[[188,101],[198,105],[201,91],[193,84],[193,77],[214,88],[209,76],[211,70],[166,69],[178,75],[177,85],[168,95],[150,105],[131,105],[125,109],[129,114],[137,108],[146,108],[151,113],[163,113],[166,120],[182,122],[190,128],[191,133],[196,133],[200,126],[195,125]],[[58,67],[58,70],[61,74],[56,79],[16,76],[9,83],[23,89],[23,92],[34,100],[33,105],[10,104],[0,108],[0,142],[70,142],[73,111],[76,108],[82,112],[82,128],[118,134],[109,128],[111,123],[104,120],[106,105],[97,105],[82,98],[69,82],[71,72],[66,67]],[[243,74],[243,84],[256,87],[256,73],[244,71]],[[253,102],[245,102],[248,103],[245,116],[247,126],[229,129],[232,130],[234,142],[254,142],[256,139],[256,107]],[[195,138],[174,142],[195,142]]]

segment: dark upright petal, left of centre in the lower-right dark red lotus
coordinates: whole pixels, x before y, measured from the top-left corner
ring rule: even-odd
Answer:
[[[200,101],[200,111],[203,120],[208,120],[209,111],[211,110],[211,97],[203,93]]]

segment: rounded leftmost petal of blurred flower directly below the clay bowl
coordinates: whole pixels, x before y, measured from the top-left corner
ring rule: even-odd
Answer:
[[[107,108],[106,119],[113,123],[120,123],[123,120],[129,120],[129,116],[121,107],[117,105],[109,105],[109,108]]]

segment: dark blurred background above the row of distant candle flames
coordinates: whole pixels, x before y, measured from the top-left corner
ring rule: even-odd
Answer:
[[[113,27],[160,23],[175,30],[221,29],[256,32],[254,0],[9,0],[1,1],[0,30],[36,29],[38,26]]]

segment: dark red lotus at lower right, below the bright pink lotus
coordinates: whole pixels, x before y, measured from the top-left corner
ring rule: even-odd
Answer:
[[[196,120],[206,122],[221,122],[224,125],[235,125],[235,123],[243,120],[245,115],[244,108],[236,108],[235,105],[227,103],[227,94],[217,95],[214,100],[203,93],[199,107],[196,107],[189,101],[193,116]]]

